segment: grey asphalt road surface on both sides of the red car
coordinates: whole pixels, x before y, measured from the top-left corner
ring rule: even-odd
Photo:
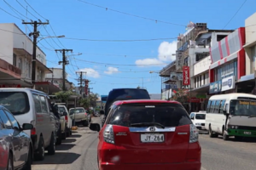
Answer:
[[[99,118],[92,119],[99,122]],[[73,136],[56,146],[55,156],[34,161],[32,170],[97,170],[97,133],[88,127],[79,127]],[[210,139],[200,134],[202,148],[201,170],[255,170],[256,142],[236,142]]]

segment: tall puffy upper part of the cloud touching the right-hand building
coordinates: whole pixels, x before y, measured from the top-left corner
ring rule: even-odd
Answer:
[[[158,59],[162,61],[173,61],[176,59],[177,42],[161,42],[158,48]]]

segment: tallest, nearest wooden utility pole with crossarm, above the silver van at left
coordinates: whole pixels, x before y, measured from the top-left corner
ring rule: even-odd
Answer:
[[[33,25],[34,31],[29,33],[29,37],[33,36],[33,49],[32,49],[32,86],[34,88],[36,82],[36,60],[37,60],[37,39],[39,37],[38,26],[39,25],[48,25],[48,22],[42,22],[41,20],[32,21],[32,22],[22,22],[25,25]]]

